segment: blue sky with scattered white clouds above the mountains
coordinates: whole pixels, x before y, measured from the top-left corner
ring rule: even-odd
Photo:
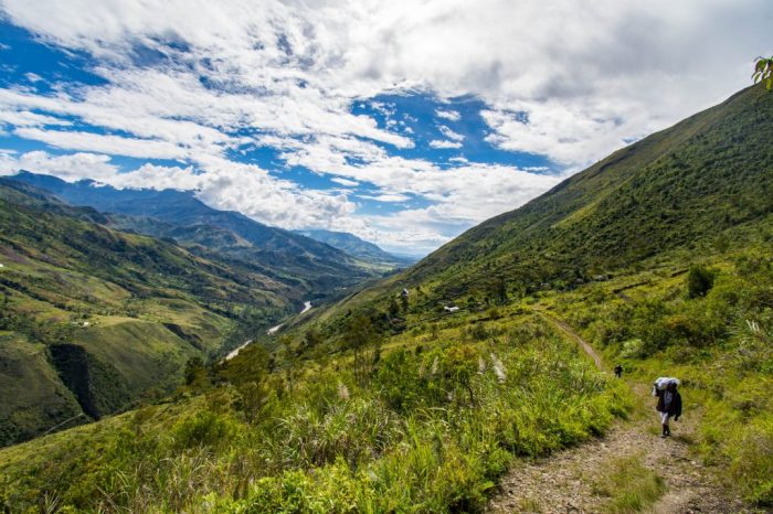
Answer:
[[[750,84],[770,0],[0,0],[0,174],[425,255]]]

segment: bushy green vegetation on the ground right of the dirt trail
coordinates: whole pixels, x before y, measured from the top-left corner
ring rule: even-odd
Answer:
[[[686,415],[701,417],[698,452],[750,502],[773,505],[773,229],[759,248],[664,266],[614,293],[586,288],[554,308],[611,362],[640,381],[682,378]],[[697,270],[714,276],[691,296]],[[636,283],[636,282],[634,282]],[[618,287],[620,288],[620,287]],[[614,361],[613,361],[614,360]]]

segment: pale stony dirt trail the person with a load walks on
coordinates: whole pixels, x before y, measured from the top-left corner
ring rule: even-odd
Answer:
[[[602,361],[564,322],[536,310],[593,357]],[[491,499],[488,512],[595,513],[603,512],[607,500],[597,492],[597,484],[615,462],[640,456],[644,465],[666,483],[666,492],[647,512],[744,513],[753,512],[738,499],[722,494],[712,475],[698,458],[690,456],[697,439],[700,413],[685,413],[671,424],[674,437],[661,439],[654,401],[648,386],[632,384],[638,405],[631,420],[617,422],[600,439],[571,448],[549,458],[520,461],[501,480],[499,494]]]

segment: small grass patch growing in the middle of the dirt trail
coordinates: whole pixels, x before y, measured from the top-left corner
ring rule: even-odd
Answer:
[[[610,514],[643,512],[666,492],[661,476],[649,470],[640,454],[612,462],[594,484],[596,494],[605,496],[602,510]]]

